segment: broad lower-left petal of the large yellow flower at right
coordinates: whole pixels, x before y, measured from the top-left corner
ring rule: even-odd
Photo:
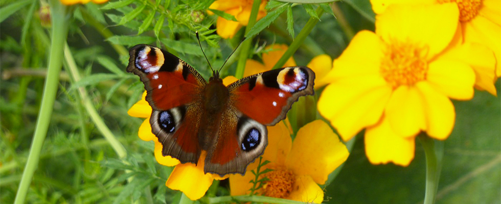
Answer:
[[[348,141],[379,121],[391,92],[392,87],[378,75],[338,80],[324,89],[317,108]]]

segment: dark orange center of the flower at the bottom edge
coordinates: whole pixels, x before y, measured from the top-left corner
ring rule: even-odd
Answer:
[[[288,169],[276,169],[265,174],[268,178],[263,186],[264,195],[276,198],[285,198],[292,191],[294,173]]]

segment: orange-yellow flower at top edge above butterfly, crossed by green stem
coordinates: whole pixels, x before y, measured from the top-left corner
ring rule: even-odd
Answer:
[[[235,16],[237,19],[237,21],[231,21],[218,17],[216,21],[217,34],[225,39],[233,38],[237,31],[249,22],[253,2],[252,0],[218,0],[212,3],[209,9],[224,11],[227,14]],[[266,1],[262,0],[256,20],[266,15],[265,6]]]

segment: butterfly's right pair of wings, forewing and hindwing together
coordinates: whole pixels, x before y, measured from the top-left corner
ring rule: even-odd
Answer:
[[[300,96],[313,95],[315,73],[308,67],[286,67],[258,73],[228,86],[229,108],[208,150],[206,172],[244,174],[266,147],[267,129],[284,119]]]

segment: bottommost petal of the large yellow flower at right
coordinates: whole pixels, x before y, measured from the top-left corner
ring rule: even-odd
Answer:
[[[385,117],[377,125],[369,127],[365,135],[366,155],[372,164],[393,162],[408,166],[414,159],[415,137],[397,135]]]

